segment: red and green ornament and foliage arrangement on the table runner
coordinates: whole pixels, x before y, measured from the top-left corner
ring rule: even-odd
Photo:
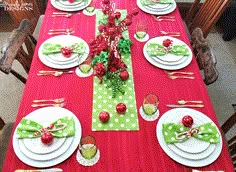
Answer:
[[[115,11],[114,4],[110,0],[103,0],[102,12],[104,17],[99,22],[99,34],[89,43],[90,56],[99,83],[108,82],[107,88],[112,88],[112,97],[115,98],[118,92],[125,94],[123,85],[129,78],[127,65],[121,57],[130,54],[132,42],[125,39],[122,33],[132,24],[133,16],[139,11],[134,9],[121,19],[121,13]]]

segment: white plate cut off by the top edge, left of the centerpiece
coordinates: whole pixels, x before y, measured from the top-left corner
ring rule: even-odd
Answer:
[[[88,3],[85,4],[84,2],[82,3],[75,3],[73,5],[68,5],[68,4],[62,4],[61,2],[58,2],[57,0],[51,0],[52,6],[54,6],[56,9],[62,10],[62,11],[79,11],[91,3],[92,0],[88,0]]]

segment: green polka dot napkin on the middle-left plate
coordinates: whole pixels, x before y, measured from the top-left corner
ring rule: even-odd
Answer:
[[[61,53],[61,48],[63,48],[62,45],[56,44],[56,43],[45,43],[43,44],[42,53],[44,55],[49,54],[55,54],[55,53]],[[83,42],[81,43],[75,43],[71,46],[68,46],[68,48],[72,49],[72,53],[76,54],[82,54],[85,52],[85,45]]]

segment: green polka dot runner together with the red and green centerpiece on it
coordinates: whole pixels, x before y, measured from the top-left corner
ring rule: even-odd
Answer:
[[[138,9],[115,9],[110,0],[96,10],[96,37],[89,42],[94,70],[93,131],[139,130],[128,26]]]

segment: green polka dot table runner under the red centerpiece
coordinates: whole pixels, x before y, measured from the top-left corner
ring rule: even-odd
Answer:
[[[126,17],[126,10],[119,10],[121,12],[121,19]],[[97,27],[104,19],[104,14],[101,10],[96,13],[96,33],[98,34]],[[129,38],[128,31],[123,32],[124,38]],[[127,65],[129,72],[129,79],[123,85],[125,90],[124,94],[118,93],[115,98],[112,97],[112,89],[107,88],[107,83],[99,84],[99,79],[94,77],[93,87],[93,111],[92,111],[92,130],[93,131],[131,131],[139,130],[138,113],[136,108],[136,99],[134,92],[133,72],[131,55],[121,55],[122,60]],[[120,115],[116,112],[116,105],[124,103],[127,107],[126,113]],[[107,111],[110,114],[110,119],[106,123],[99,120],[99,113]]]

